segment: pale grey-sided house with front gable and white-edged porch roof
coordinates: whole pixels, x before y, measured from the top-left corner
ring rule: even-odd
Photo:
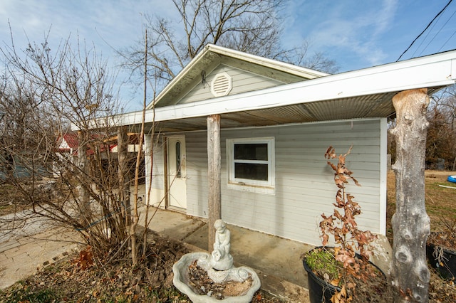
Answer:
[[[323,154],[330,145],[339,154],[353,146],[347,165],[362,185],[350,188],[362,208],[358,223],[385,234],[391,99],[455,83],[455,62],[452,51],[327,75],[208,45],[147,107],[147,129],[156,122],[145,139],[146,155],[153,152],[145,157],[146,169],[153,159],[150,203],[165,196],[161,207],[208,216],[207,117],[219,115],[225,221],[321,243],[320,215],[332,213],[336,194]],[[115,121],[135,125],[141,115]]]

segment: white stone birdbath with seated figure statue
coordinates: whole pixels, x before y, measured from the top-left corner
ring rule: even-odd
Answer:
[[[187,294],[192,302],[251,302],[255,292],[261,286],[259,277],[252,268],[234,267],[233,257],[229,254],[231,246],[229,230],[222,220],[216,220],[214,227],[216,232],[212,253],[209,255],[207,252],[191,252],[183,255],[172,266],[174,273],[172,283],[180,292]],[[191,281],[195,279],[190,277],[191,270],[203,272],[204,277],[200,279],[209,279],[209,284],[218,283],[226,287],[229,285],[231,292],[223,299],[217,299],[214,297],[213,289],[206,289]]]

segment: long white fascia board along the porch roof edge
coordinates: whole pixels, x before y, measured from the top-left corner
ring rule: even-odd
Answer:
[[[456,51],[379,65],[373,68],[305,80],[239,95],[147,110],[145,122],[260,110],[383,92],[452,85],[456,78]],[[113,117],[114,118],[114,117]],[[141,112],[121,115],[120,124],[138,124]]]

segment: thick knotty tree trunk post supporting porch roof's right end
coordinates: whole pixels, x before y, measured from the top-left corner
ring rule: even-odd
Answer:
[[[393,283],[395,302],[427,302],[430,272],[426,241],[430,219],[425,208],[425,148],[429,123],[427,89],[407,90],[393,97],[395,137],[396,209],[393,215]]]

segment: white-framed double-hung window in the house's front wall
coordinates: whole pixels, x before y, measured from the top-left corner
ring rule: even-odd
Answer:
[[[274,138],[227,139],[228,188],[275,193]]]

